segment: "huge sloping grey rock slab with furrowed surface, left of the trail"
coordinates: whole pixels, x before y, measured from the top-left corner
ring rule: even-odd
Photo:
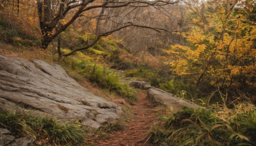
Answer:
[[[59,65],[0,54],[0,112],[23,110],[17,104],[36,115],[82,120],[95,129],[102,123],[113,123],[122,113],[119,106],[68,77]]]

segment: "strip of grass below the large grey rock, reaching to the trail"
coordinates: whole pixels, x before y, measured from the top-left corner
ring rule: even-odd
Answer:
[[[122,131],[124,124],[120,121],[105,124],[95,130],[83,126],[82,121],[60,123],[47,116],[34,116],[13,111],[0,112],[0,128],[8,129],[15,137],[32,136],[41,145],[81,146],[93,144],[98,138],[108,137],[109,133]]]

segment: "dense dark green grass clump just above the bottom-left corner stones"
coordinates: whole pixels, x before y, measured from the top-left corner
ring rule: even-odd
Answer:
[[[17,114],[3,111],[0,113],[0,128],[6,128],[16,137],[31,135],[38,140],[57,144],[79,144],[84,142],[84,132],[81,128],[70,123],[59,123],[51,117],[33,116],[28,113]]]

